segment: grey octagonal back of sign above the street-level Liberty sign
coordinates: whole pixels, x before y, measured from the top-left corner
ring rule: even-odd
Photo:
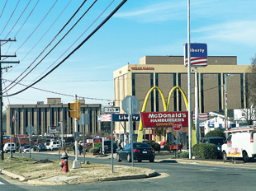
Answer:
[[[122,109],[126,114],[136,114],[140,109],[140,100],[138,100],[135,95],[127,95],[124,100],[122,100]]]

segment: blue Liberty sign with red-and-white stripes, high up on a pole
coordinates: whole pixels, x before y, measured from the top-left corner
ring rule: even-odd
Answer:
[[[207,44],[190,44],[190,63],[192,67],[207,66]],[[184,44],[184,65],[187,67],[187,43]]]

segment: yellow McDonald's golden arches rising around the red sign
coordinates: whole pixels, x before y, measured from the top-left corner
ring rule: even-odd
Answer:
[[[187,97],[184,94],[183,90],[179,86],[174,86],[172,88],[172,90],[169,92],[167,105],[166,105],[166,102],[164,100],[164,95],[163,95],[162,91],[159,89],[159,87],[154,86],[154,87],[150,88],[150,90],[148,91],[147,95],[145,96],[145,100],[144,100],[141,112],[145,112],[145,109],[146,109],[146,106],[147,106],[147,103],[148,103],[148,100],[149,100],[149,95],[150,95],[151,91],[153,91],[154,89],[158,90],[160,95],[161,95],[161,98],[163,100],[163,105],[164,105],[164,111],[168,111],[173,91],[176,90],[176,89],[178,89],[182,93],[183,100],[185,101],[186,109],[188,110]],[[140,126],[139,126],[139,130],[138,130],[137,142],[142,142],[142,138],[143,138],[142,130],[143,130],[143,125],[142,125],[142,120],[140,119]],[[193,123],[193,120],[192,120],[192,145],[194,145],[196,143],[197,143],[196,131],[195,131],[194,123]]]

